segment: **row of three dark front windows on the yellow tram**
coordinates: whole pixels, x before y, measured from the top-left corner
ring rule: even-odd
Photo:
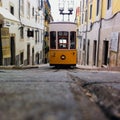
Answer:
[[[50,32],[51,49],[76,49],[75,31],[51,31]]]

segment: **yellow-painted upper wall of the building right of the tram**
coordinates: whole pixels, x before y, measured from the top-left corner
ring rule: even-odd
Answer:
[[[81,2],[82,2],[82,0],[81,0]],[[101,3],[102,3],[102,5],[101,5]],[[90,17],[90,5],[91,4],[92,4],[92,18],[90,20],[89,17]],[[85,3],[84,3],[84,5],[85,5],[84,8],[80,12],[84,13],[84,18],[85,18],[85,11],[87,9],[87,5]],[[102,10],[101,10],[101,6],[102,6]],[[97,0],[89,0],[88,7],[89,7],[88,8],[88,22],[94,23],[96,21],[99,21],[101,18],[106,18],[107,14],[111,14],[111,17],[112,17],[115,13],[120,11],[120,0],[112,0],[112,10],[111,11],[107,11],[107,0],[100,0],[100,10],[99,10],[98,16],[96,16]],[[82,8],[82,6],[81,6],[81,8]],[[101,12],[102,12],[102,14],[101,14]],[[80,17],[82,17],[82,15]],[[81,18],[80,18],[80,20],[81,20]],[[83,23],[86,24],[85,19],[84,19]],[[81,24],[78,24],[78,26],[79,25],[81,25]]]

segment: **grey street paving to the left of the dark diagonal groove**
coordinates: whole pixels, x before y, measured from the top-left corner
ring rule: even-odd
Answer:
[[[0,70],[0,120],[107,120],[69,75],[79,72]]]

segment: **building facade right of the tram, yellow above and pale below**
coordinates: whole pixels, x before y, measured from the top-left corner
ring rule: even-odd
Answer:
[[[119,0],[80,0],[79,64],[120,66],[119,4]]]

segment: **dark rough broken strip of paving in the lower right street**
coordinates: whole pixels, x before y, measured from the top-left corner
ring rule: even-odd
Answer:
[[[69,76],[83,90],[89,100],[96,103],[110,120],[120,119],[120,91],[108,85],[120,84],[120,82],[88,82],[71,74]]]

